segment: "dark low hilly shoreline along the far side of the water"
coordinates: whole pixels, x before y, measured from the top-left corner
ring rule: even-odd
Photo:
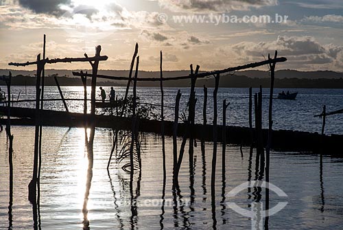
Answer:
[[[80,78],[58,76],[58,82],[61,86],[82,86]],[[91,79],[88,79],[88,85],[91,85]],[[125,81],[102,81],[98,79],[99,86],[126,86]],[[159,87],[160,82],[138,82],[139,87]],[[196,82],[196,87],[214,87],[213,78],[199,79]],[[5,82],[0,82],[0,85],[5,85]],[[13,86],[34,86],[36,85],[36,78],[34,76],[18,75],[12,77]],[[56,86],[54,75],[45,77],[46,86]],[[220,78],[220,87],[224,88],[248,88],[248,87],[270,87],[269,78],[249,78],[247,76],[222,76]],[[163,83],[164,87],[189,87],[189,80],[167,81]],[[274,87],[276,88],[305,88],[305,89],[343,89],[343,78],[281,78],[275,79]]]

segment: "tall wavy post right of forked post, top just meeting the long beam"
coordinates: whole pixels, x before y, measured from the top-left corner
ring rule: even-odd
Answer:
[[[217,225],[217,220],[215,218],[215,168],[217,164],[217,93],[219,87],[220,74],[215,76],[215,89],[213,91],[213,155],[212,155],[212,174],[211,174],[211,203],[212,203],[212,218],[213,227]]]

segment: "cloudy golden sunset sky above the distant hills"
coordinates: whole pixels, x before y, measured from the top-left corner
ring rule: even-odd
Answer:
[[[160,51],[165,70],[215,70],[264,60],[276,49],[288,59],[277,69],[343,71],[342,0],[0,0],[1,69],[36,60],[43,34],[50,59],[94,56],[101,45],[108,60],[100,69],[129,69],[139,43],[145,71],[159,69]]]

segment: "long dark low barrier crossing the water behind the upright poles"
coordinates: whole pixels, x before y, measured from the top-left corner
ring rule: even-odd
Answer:
[[[12,125],[33,126],[35,109],[34,108],[19,108],[11,107],[11,116],[17,117],[11,119]],[[91,123],[91,115],[83,113],[67,113],[64,111],[41,111],[41,123],[43,126],[61,126],[61,127],[84,127],[84,120],[88,124]],[[7,107],[0,106],[0,113],[7,113]],[[130,130],[132,119],[130,117],[115,117],[110,115],[95,115],[95,126],[100,128],[115,128],[121,130]],[[173,135],[174,122],[164,121],[165,135]],[[178,124],[178,137],[182,137],[187,129],[187,124]],[[204,139],[205,141],[213,141],[213,126],[206,124],[194,124],[193,135],[196,139]],[[140,119],[139,131],[145,133],[161,134],[161,121]],[[263,140],[268,140],[268,130],[263,129]],[[248,127],[226,126],[226,143],[240,145],[243,143],[249,146],[251,143],[251,133]],[[222,126],[217,126],[218,141],[222,141]],[[318,133],[308,133],[293,130],[273,130],[273,150],[295,151],[295,152],[311,152],[316,153],[322,145],[321,140],[324,140],[324,154],[330,154],[335,157],[343,157],[340,149],[343,142],[343,135],[322,135]],[[266,144],[266,143],[264,143]]]

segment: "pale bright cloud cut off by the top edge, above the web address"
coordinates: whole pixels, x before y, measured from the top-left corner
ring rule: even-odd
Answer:
[[[277,0],[158,0],[163,8],[174,12],[230,12],[250,7],[277,5]]]

